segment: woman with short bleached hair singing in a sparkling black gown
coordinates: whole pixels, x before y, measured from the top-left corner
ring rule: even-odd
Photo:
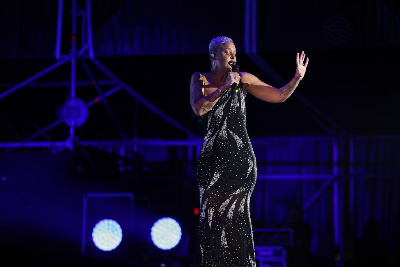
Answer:
[[[304,64],[306,54],[297,53],[294,78],[274,88],[248,72],[232,72],[237,63],[232,39],[216,37],[208,50],[211,72],[195,72],[190,81],[190,104],[205,129],[196,166],[200,218],[193,267],[255,267],[249,207],[257,165],[244,98],[249,92],[284,102],[304,77],[308,58]]]

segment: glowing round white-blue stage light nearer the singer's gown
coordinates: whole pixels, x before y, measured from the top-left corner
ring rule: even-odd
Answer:
[[[164,217],[158,219],[151,228],[151,239],[160,249],[172,249],[178,245],[182,237],[182,229],[177,221]]]

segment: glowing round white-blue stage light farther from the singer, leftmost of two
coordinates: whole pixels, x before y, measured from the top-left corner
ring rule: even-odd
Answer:
[[[112,219],[103,219],[94,226],[92,239],[94,245],[99,249],[103,251],[111,251],[121,243],[121,226]]]

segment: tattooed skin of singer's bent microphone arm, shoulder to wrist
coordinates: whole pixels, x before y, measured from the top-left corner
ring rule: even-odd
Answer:
[[[204,81],[206,77],[203,74],[199,73],[195,77],[192,78],[190,82],[190,88],[193,88],[190,92],[190,103],[194,110],[199,111],[202,110],[203,112],[208,112],[215,104],[216,100],[220,97],[220,93],[215,91],[205,97],[203,97],[203,93],[201,89],[204,85]],[[197,100],[197,101],[196,101]]]

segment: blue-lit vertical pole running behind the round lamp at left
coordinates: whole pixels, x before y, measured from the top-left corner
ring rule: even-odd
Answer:
[[[76,82],[76,0],[72,0],[72,35],[71,35],[71,92],[70,99],[75,98]],[[75,125],[74,125],[75,126]],[[74,126],[70,127],[70,145],[74,149]]]

